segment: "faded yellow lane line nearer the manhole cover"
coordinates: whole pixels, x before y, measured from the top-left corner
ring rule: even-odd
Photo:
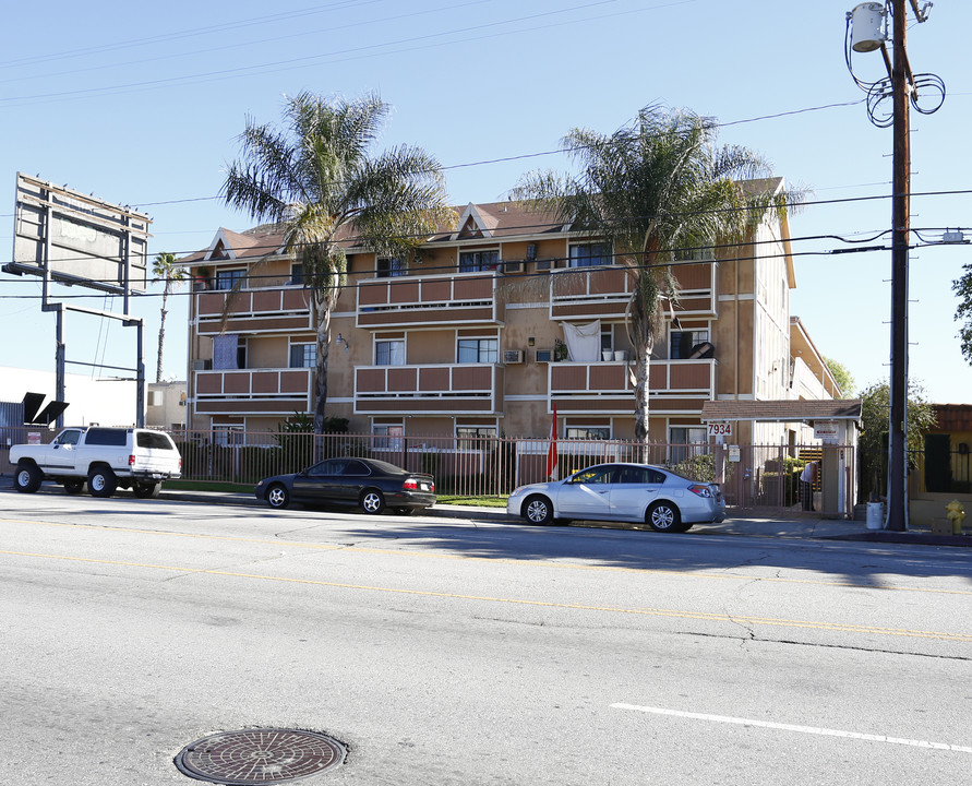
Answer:
[[[972,633],[945,633],[940,631],[921,631],[896,628],[874,628],[840,622],[816,622],[812,620],[788,620],[771,617],[743,617],[740,615],[713,614],[709,611],[680,611],[677,609],[639,608],[623,606],[591,606],[587,604],[561,603],[555,600],[531,600],[528,598],[493,597],[489,595],[463,595],[459,593],[440,593],[430,590],[408,590],[401,587],[383,587],[369,584],[349,584],[346,582],[328,582],[317,579],[290,579],[287,576],[274,576],[264,573],[241,573],[239,571],[219,570],[216,568],[188,568],[179,565],[155,564],[149,562],[125,562],[121,560],[94,559],[91,557],[64,557],[61,555],[47,555],[31,551],[9,551],[0,549],[0,555],[12,557],[31,557],[35,559],[49,559],[65,562],[83,562],[87,564],[117,565],[122,568],[145,568],[161,570],[172,573],[230,576],[235,579],[253,579],[257,581],[280,582],[286,584],[304,584],[309,586],[326,586],[339,590],[358,590],[362,592],[379,592],[394,595],[413,595],[419,597],[451,598],[455,600],[477,600],[484,603],[511,604],[517,606],[536,606],[542,608],[569,609],[575,611],[605,611],[613,614],[637,615],[645,617],[669,617],[675,619],[696,619],[706,622],[723,622],[732,626],[769,626],[778,628],[804,628],[807,630],[821,630],[838,633],[872,633],[877,635],[902,636],[910,639],[935,639],[939,641],[957,641],[972,643]]]

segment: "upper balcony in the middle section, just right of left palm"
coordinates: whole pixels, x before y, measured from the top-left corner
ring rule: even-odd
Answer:
[[[369,278],[358,286],[359,327],[499,324],[496,278],[491,273]]]

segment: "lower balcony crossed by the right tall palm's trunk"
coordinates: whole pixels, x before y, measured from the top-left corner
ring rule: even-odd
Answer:
[[[648,369],[652,412],[699,413],[716,395],[716,364],[697,360],[652,360]],[[633,370],[624,361],[555,362],[547,370],[550,397],[561,414],[629,414],[634,400]]]

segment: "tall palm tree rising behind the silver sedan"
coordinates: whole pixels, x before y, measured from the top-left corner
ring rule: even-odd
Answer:
[[[576,177],[527,175],[513,190],[590,237],[613,247],[633,277],[627,330],[635,356],[635,436],[648,436],[648,369],[677,305],[676,257],[743,240],[802,193],[778,188],[769,165],[740,146],[717,146],[717,124],[688,110],[647,106],[610,135],[574,129],[563,146],[580,165]],[[743,182],[751,181],[751,182]]]

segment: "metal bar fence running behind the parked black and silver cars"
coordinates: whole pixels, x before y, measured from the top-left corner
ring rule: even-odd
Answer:
[[[49,442],[49,429],[0,428],[0,467],[12,472],[3,449],[34,440]],[[182,455],[182,479],[254,485],[272,475],[295,473],[324,458],[380,458],[435,477],[440,496],[504,497],[517,486],[548,479],[550,439],[497,437],[406,437],[363,433],[313,434],[287,431],[169,431]],[[625,440],[562,439],[554,442],[556,477],[591,464],[616,461],[664,466],[697,480],[717,473],[712,444],[641,443]],[[854,466],[853,449],[849,465]],[[725,451],[722,488],[740,508],[800,508],[800,472],[819,458],[819,445],[739,445]],[[848,478],[850,480],[850,478]],[[817,490],[820,490],[819,481]],[[837,512],[837,511],[835,511]],[[844,511],[839,511],[843,513]]]

